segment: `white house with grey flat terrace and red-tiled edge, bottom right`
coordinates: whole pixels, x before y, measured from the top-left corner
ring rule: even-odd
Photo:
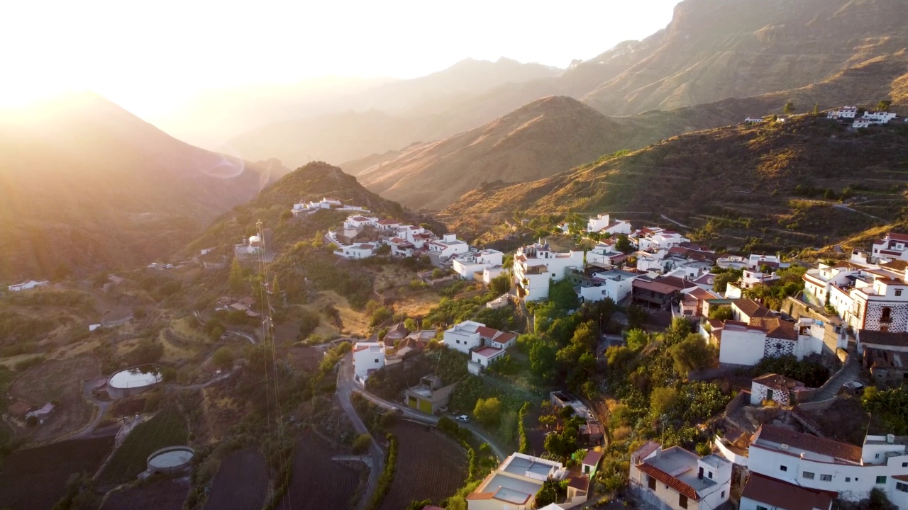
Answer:
[[[630,490],[657,510],[714,510],[731,495],[732,463],[654,441],[630,457]]]

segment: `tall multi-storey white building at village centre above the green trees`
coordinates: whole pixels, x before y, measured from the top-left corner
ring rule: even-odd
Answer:
[[[524,246],[514,254],[514,284],[527,301],[548,299],[548,286],[565,277],[565,270],[583,265],[583,251],[554,252],[548,244]]]

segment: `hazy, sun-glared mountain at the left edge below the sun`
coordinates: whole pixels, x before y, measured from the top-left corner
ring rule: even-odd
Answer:
[[[277,162],[180,142],[94,94],[0,114],[0,278],[147,262],[251,198]]]

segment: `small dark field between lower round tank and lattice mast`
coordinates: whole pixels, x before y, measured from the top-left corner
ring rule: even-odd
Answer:
[[[253,448],[233,452],[223,459],[214,476],[207,510],[245,510],[262,508],[268,495],[268,465]]]

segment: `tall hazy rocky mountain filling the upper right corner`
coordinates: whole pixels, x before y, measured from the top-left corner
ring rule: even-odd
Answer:
[[[795,89],[908,47],[900,0],[685,0],[636,64],[582,100],[639,113]]]

